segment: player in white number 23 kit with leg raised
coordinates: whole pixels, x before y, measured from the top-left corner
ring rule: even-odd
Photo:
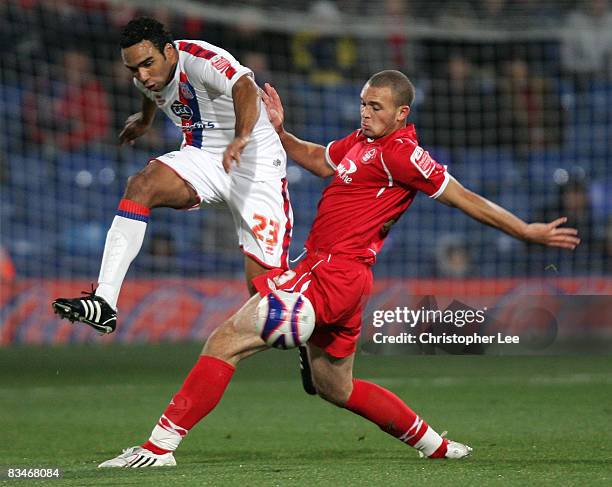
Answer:
[[[127,119],[120,142],[133,143],[147,132],[158,108],[184,137],[180,150],[153,158],[129,178],[106,237],[95,292],[53,302],[62,318],[101,333],[115,330],[119,292],[152,208],[226,204],[251,294],[253,277],[288,267],[293,226],[287,156],[262,110],[252,71],[212,44],[175,42],[161,23],[146,17],[125,26],[120,45],[142,92],[142,110]]]

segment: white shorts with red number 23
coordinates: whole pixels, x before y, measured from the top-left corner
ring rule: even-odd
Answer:
[[[264,267],[288,269],[293,210],[287,179],[253,181],[235,169],[227,174],[222,157],[222,154],[185,146],[155,159],[195,189],[200,204],[193,209],[223,204],[229,207],[244,254]],[[241,161],[245,163],[244,156]],[[284,153],[279,162],[286,164]]]

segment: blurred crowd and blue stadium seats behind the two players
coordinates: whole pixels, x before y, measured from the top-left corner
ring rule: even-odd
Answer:
[[[228,4],[241,6],[210,2]],[[126,178],[180,143],[158,115],[135,147],[117,146],[124,120],[140,105],[117,38],[138,14],[166,23],[177,39],[233,53],[260,85],[278,87],[287,126],[320,143],[358,126],[359,92],[372,73],[402,70],[417,87],[411,118],[422,144],[457,179],[525,219],[566,215],[583,239],[573,254],[526,246],[419,197],[391,233],[379,275],[612,271],[612,12],[605,0],[250,0],[239,22],[140,5],[0,5],[5,277],[94,278]],[[267,12],[283,9],[297,10],[303,29],[266,23]],[[362,35],[364,22],[378,30]],[[290,166],[297,255],[325,182]],[[240,275],[232,227],[222,209],[155,210],[132,275]]]

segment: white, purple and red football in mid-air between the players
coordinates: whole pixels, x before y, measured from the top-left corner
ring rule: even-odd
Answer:
[[[259,336],[274,348],[306,343],[315,326],[312,303],[300,293],[271,292],[259,302],[255,316]]]

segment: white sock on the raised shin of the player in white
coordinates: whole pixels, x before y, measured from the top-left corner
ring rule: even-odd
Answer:
[[[106,234],[96,296],[104,298],[115,310],[123,279],[140,252],[146,230],[146,221],[118,214]]]

